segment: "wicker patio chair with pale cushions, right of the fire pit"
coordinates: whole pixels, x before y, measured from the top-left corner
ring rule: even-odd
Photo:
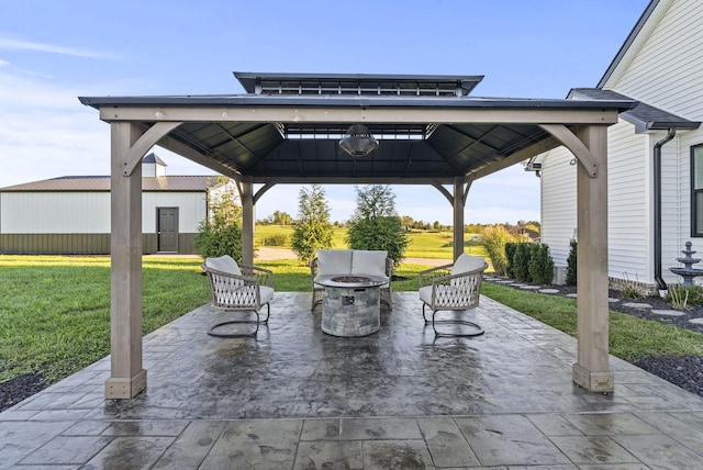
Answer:
[[[420,300],[425,325],[432,323],[436,336],[478,336],[483,328],[467,320],[436,318],[439,311],[464,312],[479,304],[481,281],[488,264],[481,257],[460,255],[453,265],[438,266],[420,272]],[[432,311],[427,318],[425,307]],[[458,325],[456,328],[437,329],[438,324]]]

